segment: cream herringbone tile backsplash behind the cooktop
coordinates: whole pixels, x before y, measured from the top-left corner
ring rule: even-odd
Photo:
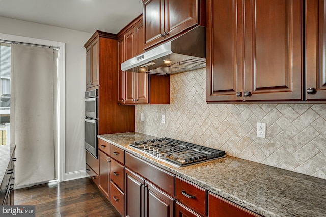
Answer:
[[[170,104],[137,105],[136,131],[326,179],[326,104],[208,105],[205,91],[205,69],[171,75]]]

